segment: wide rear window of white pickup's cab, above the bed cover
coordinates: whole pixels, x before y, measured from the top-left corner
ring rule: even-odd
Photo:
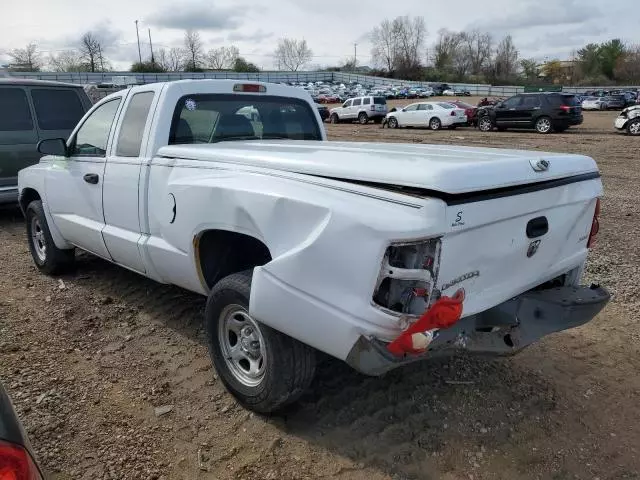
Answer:
[[[322,140],[322,135],[303,100],[223,94],[182,97],[169,133],[169,145],[259,139]]]

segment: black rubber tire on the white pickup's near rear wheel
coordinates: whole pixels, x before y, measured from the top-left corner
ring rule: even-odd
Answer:
[[[315,375],[316,352],[248,316],[252,275],[253,270],[229,275],[211,290],[205,309],[209,354],[222,383],[240,404],[258,413],[273,413],[295,402],[311,384]],[[244,313],[238,310],[236,314],[241,315],[244,320],[248,318],[252,322],[252,329],[258,329],[259,354],[264,362],[264,371],[256,379],[255,385],[248,385],[246,381],[243,383],[242,374],[234,373],[233,370],[238,367],[229,365],[233,364],[232,357],[225,358],[223,352],[223,345],[227,345],[224,342],[228,342],[233,335],[228,332],[226,338],[221,337],[220,334],[224,331],[221,324],[224,325],[227,312],[231,312],[235,319],[233,309],[236,307],[244,310]],[[242,339],[237,336],[236,344],[244,348],[245,344],[241,342]],[[253,348],[255,349],[255,345]]]

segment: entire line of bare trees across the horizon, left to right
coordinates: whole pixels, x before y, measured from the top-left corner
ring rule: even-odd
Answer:
[[[572,85],[608,85],[640,83],[640,45],[620,39],[590,43],[573,52],[568,59],[545,62],[523,58],[511,35],[497,37],[479,29],[439,30],[427,42],[423,17],[399,16],[383,20],[369,32],[374,69],[370,73],[390,78],[442,82],[492,84],[564,83]],[[44,56],[35,43],[11,50],[13,70],[55,72],[104,72],[112,69],[105,55],[108,46],[92,32],[85,33],[76,48]],[[298,71],[313,58],[304,39],[281,38],[273,59],[278,70]],[[347,58],[332,71],[354,71],[356,59]],[[258,72],[259,67],[246,60],[235,45],[220,45],[206,50],[200,34],[184,32],[183,45],[160,48],[131,66],[133,72],[201,72],[229,70]]]

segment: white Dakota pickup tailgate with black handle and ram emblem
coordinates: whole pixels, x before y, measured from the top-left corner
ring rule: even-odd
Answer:
[[[594,178],[450,204],[437,288],[443,295],[464,288],[467,316],[580,269],[601,193]]]

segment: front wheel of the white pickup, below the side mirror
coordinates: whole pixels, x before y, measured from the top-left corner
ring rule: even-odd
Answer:
[[[62,250],[56,247],[49,231],[47,217],[41,200],[34,200],[26,209],[27,243],[36,267],[47,275],[57,275],[73,268],[75,249]]]

